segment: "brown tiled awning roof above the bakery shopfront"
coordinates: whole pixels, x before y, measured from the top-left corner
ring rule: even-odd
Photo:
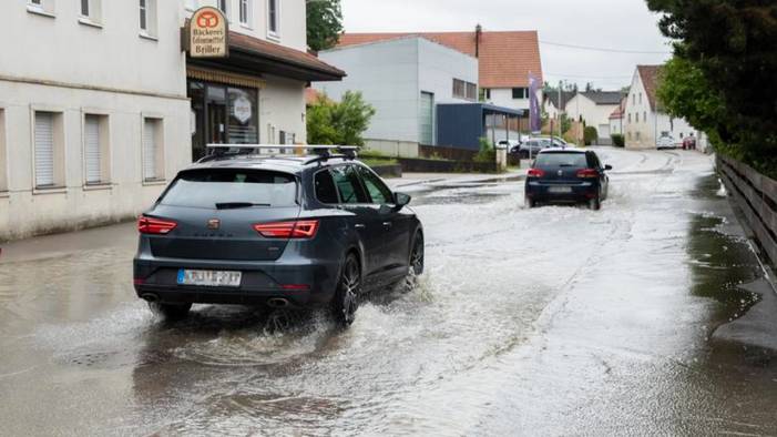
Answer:
[[[305,82],[339,81],[346,73],[310,53],[237,32],[229,32],[229,57],[187,59],[188,65],[260,77],[272,74]]]

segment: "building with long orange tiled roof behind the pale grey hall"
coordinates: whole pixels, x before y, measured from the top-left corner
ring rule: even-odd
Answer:
[[[529,109],[529,75],[543,81],[536,31],[345,33],[338,47],[423,37],[479,60],[478,85],[482,101],[517,110]],[[350,73],[350,72],[349,72]],[[539,91],[541,93],[541,91]],[[542,95],[538,94],[541,99]]]

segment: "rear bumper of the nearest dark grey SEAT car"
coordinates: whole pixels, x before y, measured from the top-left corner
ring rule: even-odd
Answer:
[[[292,307],[318,307],[331,301],[339,268],[339,260],[223,263],[139,256],[134,260],[134,287],[139,297],[161,303],[265,305],[284,298]],[[242,272],[241,285],[180,285],[180,270]]]

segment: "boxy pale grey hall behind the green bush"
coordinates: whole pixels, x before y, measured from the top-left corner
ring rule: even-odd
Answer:
[[[413,155],[436,145],[436,106],[478,100],[478,60],[422,37],[344,45],[319,53],[348,71],[341,82],[316,82],[330,99],[360,91],[376,109],[365,132],[370,149]]]

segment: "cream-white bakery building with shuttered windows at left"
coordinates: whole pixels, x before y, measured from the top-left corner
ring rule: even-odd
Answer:
[[[0,241],[136,216],[205,142],[305,140],[306,82],[343,77],[305,51],[305,0],[217,3],[0,3]],[[182,50],[202,6],[226,59]]]

